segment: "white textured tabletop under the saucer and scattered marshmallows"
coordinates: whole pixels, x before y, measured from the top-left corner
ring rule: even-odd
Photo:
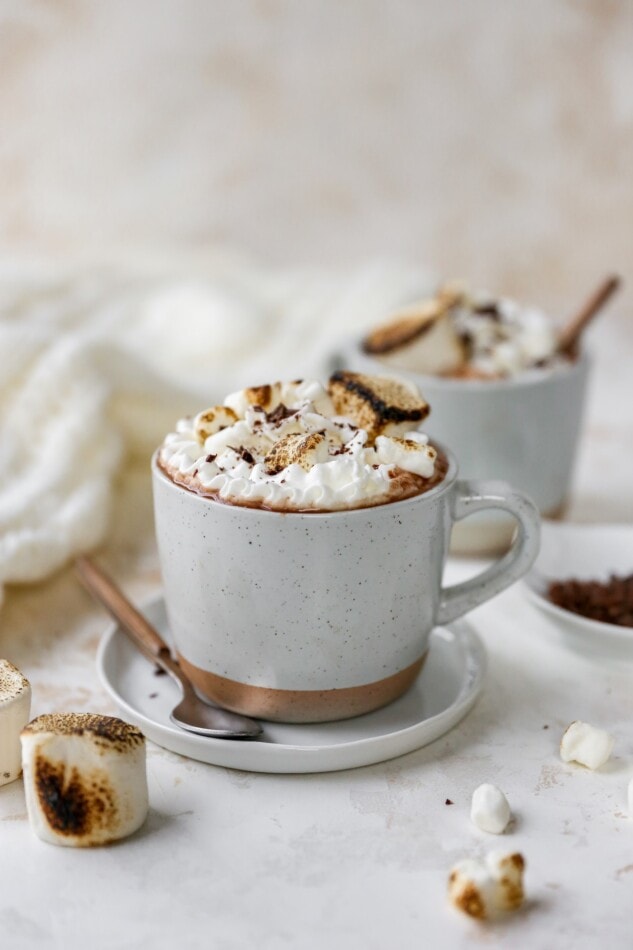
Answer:
[[[126,476],[115,524],[102,560],[142,599],[159,585],[144,474]],[[400,759],[270,776],[150,745],[147,824],[94,851],[43,844],[21,782],[0,789],[2,946],[630,947],[633,665],[599,668],[548,642],[549,621],[516,587],[472,620],[489,652],[482,697],[446,737]],[[34,713],[114,712],[94,665],[107,620],[70,572],[11,591],[1,621],[0,652],[30,677]],[[598,773],[559,759],[574,718],[616,737]],[[502,839],[469,822],[484,781],[516,814]],[[480,925],[448,907],[447,873],[499,845],[525,855],[529,899],[507,921]]]

